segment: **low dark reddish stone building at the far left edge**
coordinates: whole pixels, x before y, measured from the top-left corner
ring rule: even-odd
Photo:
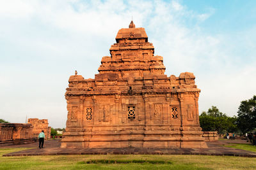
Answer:
[[[0,124],[0,146],[33,143],[31,124]]]

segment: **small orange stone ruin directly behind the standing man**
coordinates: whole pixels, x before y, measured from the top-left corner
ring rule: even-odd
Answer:
[[[51,127],[48,127],[48,120],[47,119],[38,119],[38,118],[29,118],[28,124],[31,124],[33,130],[31,135],[33,138],[38,138],[38,134],[44,130],[45,138],[51,138]],[[49,130],[50,129],[50,130]]]

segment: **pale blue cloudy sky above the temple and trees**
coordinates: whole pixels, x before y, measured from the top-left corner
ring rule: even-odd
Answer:
[[[211,106],[232,117],[256,95],[256,1],[0,0],[0,118],[65,127],[68,78],[94,78],[119,29],[134,21],[167,76],[186,71]]]

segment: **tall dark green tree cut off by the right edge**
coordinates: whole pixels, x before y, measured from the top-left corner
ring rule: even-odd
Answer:
[[[256,128],[256,96],[246,101],[241,101],[237,111],[237,127],[242,134],[251,132]]]

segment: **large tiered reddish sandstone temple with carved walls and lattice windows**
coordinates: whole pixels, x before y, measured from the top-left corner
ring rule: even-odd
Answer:
[[[95,78],[70,76],[62,148],[206,148],[193,73],[166,76],[145,29],[120,29]]]

